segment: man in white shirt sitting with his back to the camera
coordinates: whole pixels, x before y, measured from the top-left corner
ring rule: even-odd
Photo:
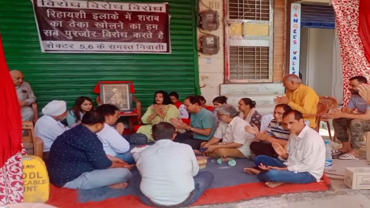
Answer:
[[[198,173],[191,146],[173,141],[172,124],[161,122],[152,131],[156,142],[140,152],[136,163],[142,177],[140,199],[152,207],[188,207],[211,185],[213,174]]]

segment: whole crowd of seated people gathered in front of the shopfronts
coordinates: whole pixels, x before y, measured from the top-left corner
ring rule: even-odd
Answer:
[[[31,115],[25,107],[36,97],[20,71],[11,71],[11,75],[23,119],[29,120]],[[329,114],[343,142],[343,148],[333,153],[340,159],[358,157],[359,137],[370,130],[370,106],[358,95],[359,85],[367,83],[363,78],[351,78],[349,106]],[[244,172],[256,174],[269,187],[320,181],[324,141],[313,130],[314,118],[304,117],[316,114],[319,97],[295,75],[287,75],[283,82],[286,96],[277,97],[273,113],[263,116],[256,110],[258,104],[249,98],[239,101],[238,111],[227,104],[225,96],[216,97],[210,107],[200,95],[186,97],[182,103],[178,93],[158,91],[135,134],[124,134],[124,125],[117,123],[120,111],[115,105],[94,107],[88,97],[77,98],[69,111],[65,101],[48,103],[35,124],[35,133],[44,141],[44,160],[54,185],[125,188],[131,170],[138,168],[142,177],[140,199],[150,206],[188,206],[211,186],[213,174],[199,172],[196,155],[223,161],[253,158],[256,167],[246,167]],[[352,114],[354,108],[359,114]],[[130,151],[130,144],[145,143],[151,145]]]

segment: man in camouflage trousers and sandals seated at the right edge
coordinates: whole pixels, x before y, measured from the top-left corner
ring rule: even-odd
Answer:
[[[363,76],[356,76],[349,79],[349,89],[352,96],[347,107],[341,110],[334,110],[328,114],[333,118],[333,127],[337,138],[342,142],[343,147],[333,152],[333,158],[341,160],[356,159],[360,156],[361,138],[365,131],[370,131],[370,106],[359,95],[360,84],[367,84]],[[357,109],[358,114],[352,114]],[[350,135],[347,130],[349,129]],[[351,142],[350,142],[351,138]]]

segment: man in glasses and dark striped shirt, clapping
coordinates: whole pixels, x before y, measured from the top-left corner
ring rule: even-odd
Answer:
[[[283,128],[282,122],[283,114],[289,110],[292,110],[292,108],[287,104],[276,105],[273,112],[274,119],[264,132],[258,131],[258,128],[253,124],[253,126],[245,127],[245,131],[255,134],[256,139],[259,140],[250,144],[250,150],[252,150],[255,155],[268,155],[276,158],[279,156],[272,147],[272,143],[277,142],[283,147],[287,145],[290,133]]]

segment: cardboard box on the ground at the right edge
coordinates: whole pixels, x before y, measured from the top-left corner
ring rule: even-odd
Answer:
[[[370,189],[370,168],[346,168],[344,184],[351,189]]]

